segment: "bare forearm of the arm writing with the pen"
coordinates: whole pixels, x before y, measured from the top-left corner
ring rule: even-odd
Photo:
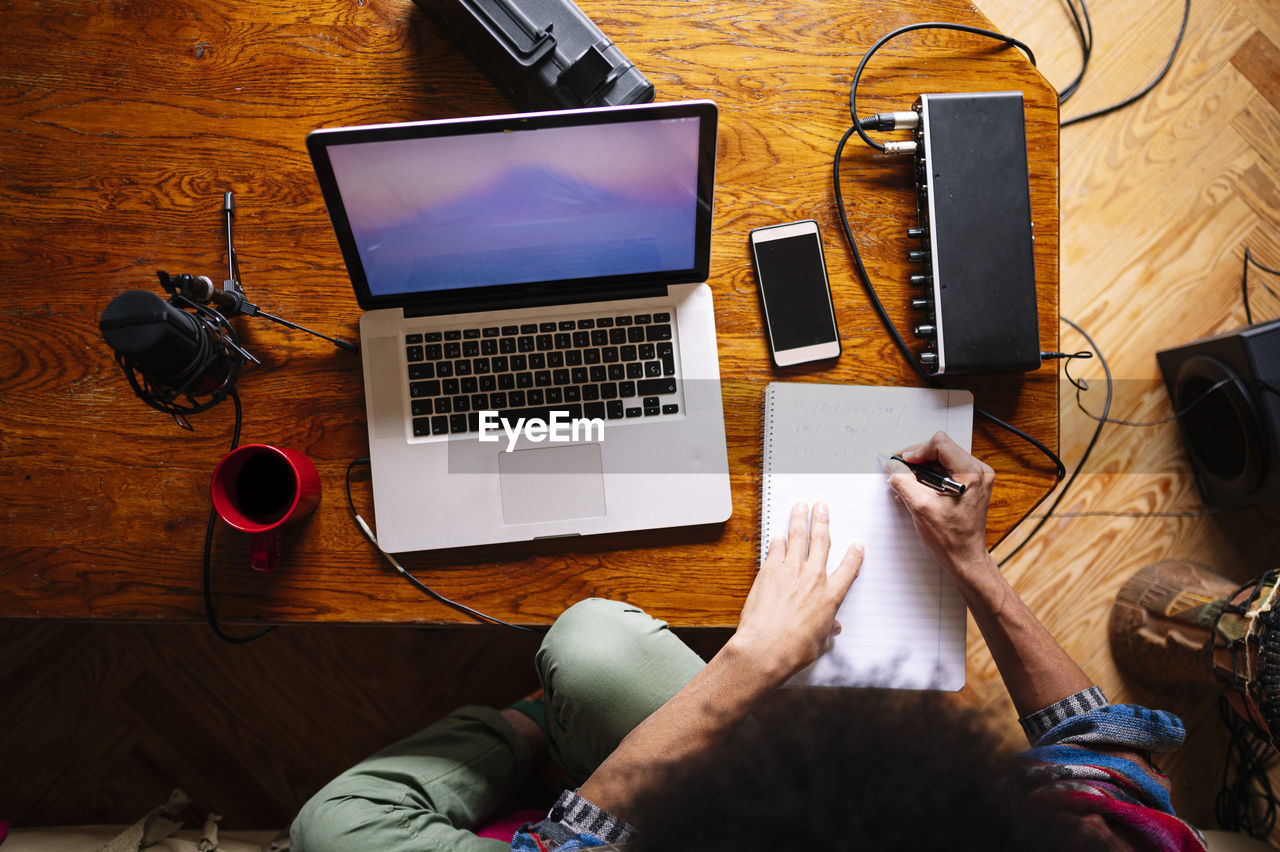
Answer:
[[[952,576],[1020,716],[1093,686],[989,555],[952,565]]]

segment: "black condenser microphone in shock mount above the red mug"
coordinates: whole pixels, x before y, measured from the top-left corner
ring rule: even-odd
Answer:
[[[147,290],[111,299],[99,329],[138,398],[187,427],[182,416],[221,402],[247,354],[216,312],[183,311]]]

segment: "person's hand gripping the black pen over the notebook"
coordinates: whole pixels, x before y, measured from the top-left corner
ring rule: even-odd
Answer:
[[[902,449],[899,455],[915,464],[928,464],[965,485],[964,494],[941,494],[923,482],[901,462],[890,461],[890,487],[911,512],[915,531],[937,560],[954,574],[986,565],[987,504],[996,473],[960,448],[946,432],[937,432],[923,444]]]

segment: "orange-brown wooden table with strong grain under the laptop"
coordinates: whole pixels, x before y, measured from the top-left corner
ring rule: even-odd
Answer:
[[[919,20],[984,24],[963,0],[582,0],[658,88],[721,107],[710,284],[733,487],[723,526],[415,554],[439,591],[502,618],[548,623],[590,595],[627,599],[678,626],[732,626],[758,559],[760,400],[773,379],[918,384],[873,315],[840,235],[832,155],[849,127],[863,51]],[[248,297],[328,334],[357,338],[357,306],[307,161],[321,125],[509,111],[410,0],[282,3],[59,0],[9,10],[0,46],[0,617],[202,618],[209,480],[232,406],[179,430],[129,390],[97,331],[106,303],[159,292],[156,270],[225,276],[224,189],[238,202]],[[1014,50],[913,33],[882,50],[863,114],[929,91],[1027,96],[1041,342],[1057,344],[1057,101]],[[850,216],[899,327],[909,327],[909,160],[852,142]],[[845,354],[774,370],[746,249],[758,225],[823,229]],[[261,361],[241,379],[243,440],[311,455],[320,509],[280,571],[246,568],[219,526],[214,594],[225,622],[470,623],[392,573],[347,513],[348,459],[367,453],[358,356],[238,319]],[[957,383],[1057,446],[1059,385],[1032,375]],[[983,421],[975,453],[1000,473],[991,533],[1004,537],[1052,487],[1052,467]],[[356,499],[369,514],[367,481]],[[425,518],[424,522],[430,522]]]

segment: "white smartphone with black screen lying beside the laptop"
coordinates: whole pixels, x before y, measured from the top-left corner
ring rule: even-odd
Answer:
[[[756,228],[749,242],[773,363],[788,367],[837,357],[840,331],[818,223]]]

